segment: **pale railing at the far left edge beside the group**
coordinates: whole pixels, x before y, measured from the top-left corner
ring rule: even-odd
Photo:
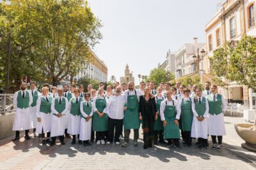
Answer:
[[[15,112],[13,94],[0,94],[0,115]]]

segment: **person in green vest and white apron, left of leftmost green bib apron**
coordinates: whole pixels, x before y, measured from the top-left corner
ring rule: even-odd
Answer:
[[[80,111],[81,111],[81,124],[80,124],[80,132],[79,139],[83,141],[84,146],[89,146],[90,139],[92,135],[92,101],[90,101],[90,93],[84,94],[84,101],[80,103]]]

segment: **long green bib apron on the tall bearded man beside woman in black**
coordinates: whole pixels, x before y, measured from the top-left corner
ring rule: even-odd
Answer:
[[[139,101],[136,94],[127,96],[127,110],[124,114],[124,129],[139,129],[140,128],[140,114]]]

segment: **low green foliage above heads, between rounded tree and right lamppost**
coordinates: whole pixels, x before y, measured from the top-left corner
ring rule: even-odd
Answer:
[[[200,84],[200,76],[194,76],[191,78],[190,76],[184,76],[182,78],[177,78],[177,80],[170,81],[172,86],[175,86],[176,82],[180,81],[182,85],[184,85],[185,88],[188,88],[189,85],[198,85],[199,88],[202,88],[202,85]]]

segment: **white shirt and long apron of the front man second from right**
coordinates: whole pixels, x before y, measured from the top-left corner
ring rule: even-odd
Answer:
[[[202,102],[203,96],[199,97],[198,96],[198,101],[199,99]],[[199,122],[196,117],[198,117],[198,113],[196,113],[195,110],[195,102],[192,101],[192,111],[193,111],[193,123],[191,127],[191,137],[192,138],[208,138],[208,113],[209,113],[209,104],[207,99],[205,98],[205,113],[204,113],[204,120],[202,122]]]

